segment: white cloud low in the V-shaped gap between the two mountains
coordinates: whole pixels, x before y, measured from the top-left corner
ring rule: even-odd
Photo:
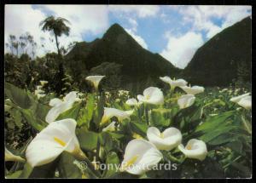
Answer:
[[[167,47],[160,54],[179,68],[187,66],[195,51],[203,44],[201,34],[194,31],[189,31],[181,37],[166,33],[166,37]]]

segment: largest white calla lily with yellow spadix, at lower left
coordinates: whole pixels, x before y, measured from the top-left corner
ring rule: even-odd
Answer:
[[[27,162],[32,167],[41,166],[54,161],[64,151],[84,159],[84,152],[75,134],[76,125],[76,121],[71,118],[49,123],[27,146]]]

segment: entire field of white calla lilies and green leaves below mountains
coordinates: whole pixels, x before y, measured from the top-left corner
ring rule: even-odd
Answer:
[[[5,83],[6,178],[248,178],[252,97],[247,89],[170,86],[59,98]],[[111,166],[110,166],[111,165]]]

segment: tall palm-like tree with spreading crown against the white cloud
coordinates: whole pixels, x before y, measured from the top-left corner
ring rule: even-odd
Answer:
[[[69,21],[61,17],[55,18],[54,16],[49,16],[39,24],[39,26],[43,26],[42,31],[52,31],[54,33],[59,55],[61,55],[61,51],[59,48],[58,37],[61,37],[62,34],[68,36],[70,31],[70,28],[66,26],[65,23],[69,23]]]

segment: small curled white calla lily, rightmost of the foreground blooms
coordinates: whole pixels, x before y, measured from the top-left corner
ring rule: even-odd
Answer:
[[[191,139],[187,146],[184,147],[181,144],[178,146],[178,149],[189,158],[203,161],[207,157],[207,145],[202,140]]]

